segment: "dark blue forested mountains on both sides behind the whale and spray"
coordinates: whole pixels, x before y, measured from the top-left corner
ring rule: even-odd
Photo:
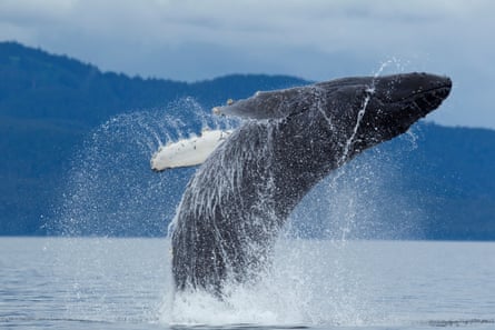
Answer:
[[[257,90],[304,83],[291,77],[251,74],[195,83],[130,78],[1,42],[0,234],[47,233],[43,224],[47,217],[55,217],[53,204],[73,154],[96,128],[115,116],[155,108],[169,109],[170,117],[182,116],[180,109],[168,104],[190,97],[209,109]],[[388,161],[400,172],[397,193],[422,204],[426,219],[423,238],[495,239],[495,131],[424,123],[414,131],[414,142],[407,137],[397,139],[379,147],[378,152],[390,154]],[[412,149],[412,143],[417,147]],[[402,152],[404,149],[408,151]],[[112,152],[111,148],[106,152]],[[142,176],[149,174],[149,168],[142,170],[147,171]],[[190,176],[190,171],[178,176],[182,174]],[[98,211],[101,214],[105,209]],[[392,219],[402,217],[400,212],[389,214],[390,219],[383,221],[400,221]],[[164,232],[156,228],[166,226],[157,222],[145,228],[138,222],[117,231],[106,231],[102,226],[83,234],[156,236]]]

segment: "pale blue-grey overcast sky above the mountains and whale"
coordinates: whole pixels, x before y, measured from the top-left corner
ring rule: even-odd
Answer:
[[[492,0],[1,0],[0,40],[105,71],[196,81],[430,71],[454,90],[430,117],[495,129]]]

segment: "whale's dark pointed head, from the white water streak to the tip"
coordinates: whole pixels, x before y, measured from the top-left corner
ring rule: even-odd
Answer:
[[[347,109],[347,116],[343,117],[345,121],[356,122],[354,152],[406,132],[413,123],[437,109],[452,89],[449,78],[427,73],[367,80],[345,91],[355,100],[353,110]]]

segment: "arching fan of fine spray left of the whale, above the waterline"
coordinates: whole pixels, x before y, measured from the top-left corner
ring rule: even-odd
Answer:
[[[169,141],[231,122],[211,118],[194,99],[113,117],[95,129],[66,174],[53,232],[65,236],[165,236],[194,169],[160,176],[151,154]]]

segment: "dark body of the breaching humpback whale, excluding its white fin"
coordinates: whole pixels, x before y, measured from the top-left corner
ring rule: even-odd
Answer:
[[[404,133],[451,88],[447,77],[417,72],[343,78],[214,108],[247,120],[182,196],[171,233],[176,290],[221,298],[228,283],[256,282],[303,197],[359,152]]]

